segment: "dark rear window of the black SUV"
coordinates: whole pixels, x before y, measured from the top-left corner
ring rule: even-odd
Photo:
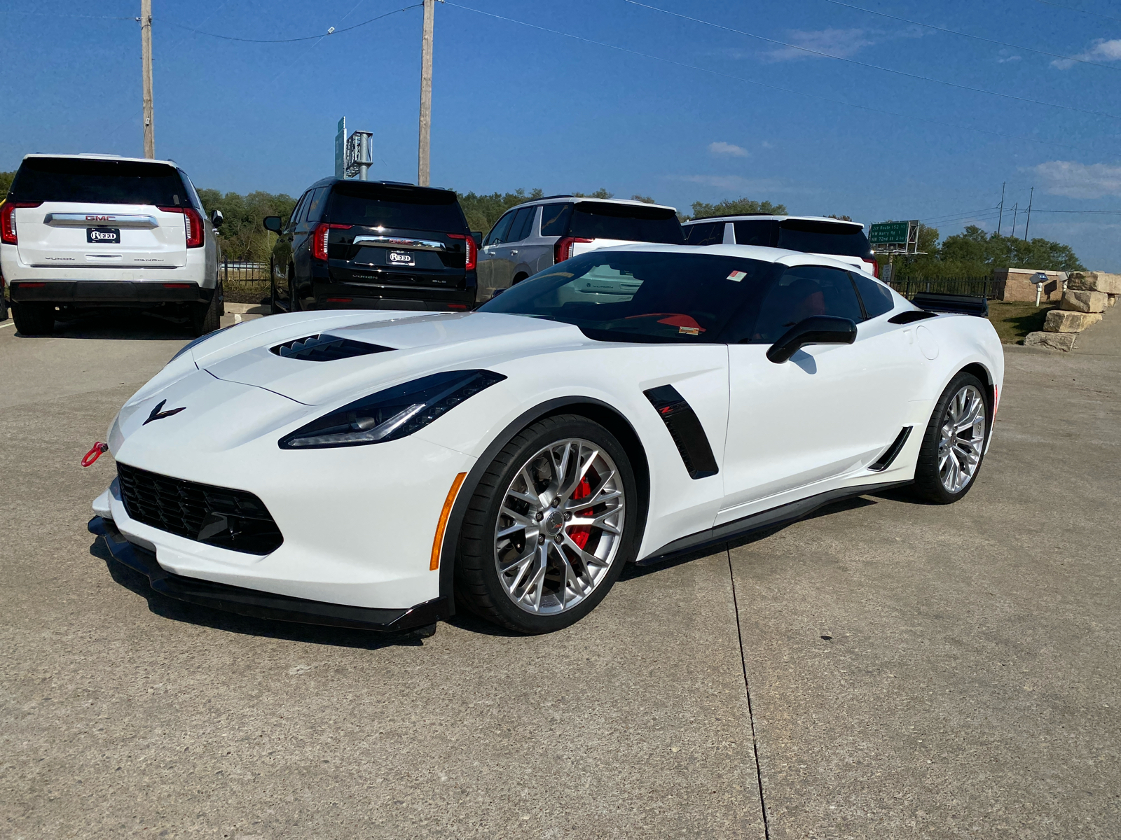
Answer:
[[[450,189],[340,181],[327,218],[336,224],[462,233],[463,211]]]

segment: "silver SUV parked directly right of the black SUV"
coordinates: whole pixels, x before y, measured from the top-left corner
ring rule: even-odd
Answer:
[[[660,204],[571,195],[519,204],[482,242],[476,300],[483,304],[569,256],[634,242],[683,244],[677,211]]]

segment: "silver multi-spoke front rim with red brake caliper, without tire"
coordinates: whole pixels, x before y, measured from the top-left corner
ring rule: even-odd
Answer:
[[[572,609],[603,582],[622,544],[622,478],[589,440],[541,448],[515,475],[494,523],[494,563],[519,608]]]

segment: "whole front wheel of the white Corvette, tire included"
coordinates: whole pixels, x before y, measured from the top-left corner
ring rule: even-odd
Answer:
[[[638,541],[638,487],[615,437],[577,416],[517,435],[472,496],[457,597],[518,633],[575,624],[606,596]]]

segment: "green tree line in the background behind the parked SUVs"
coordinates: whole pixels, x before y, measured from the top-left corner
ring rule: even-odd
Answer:
[[[0,199],[8,194],[16,172],[0,172]],[[524,202],[544,198],[541,189],[516,189],[512,193],[458,193],[460,206],[472,231],[487,233],[499,217]],[[586,198],[613,198],[606,189],[594,193],[573,193]],[[287,193],[256,192],[249,195],[200,189],[206,213],[222,211],[225,222],[221,230],[222,255],[228,260],[266,262],[272,248],[272,234],[261,226],[265,216],[280,216],[287,221],[296,199]],[[632,199],[656,204],[650,196],[633,195]],[[685,222],[705,216],[739,215],[744,213],[772,213],[786,215],[785,204],[772,204],[751,198],[733,198],[716,204],[694,202],[691,213],[678,213]],[[845,218],[847,216],[833,216]],[[981,277],[994,268],[1029,268],[1045,271],[1084,271],[1085,267],[1069,245],[1060,242],[1032,239],[1030,242],[1015,236],[986,233],[975,225],[962,233],[939,241],[938,228],[919,226],[918,250],[926,252],[917,258],[896,261],[896,276],[907,277]],[[880,258],[887,262],[887,258]]]

